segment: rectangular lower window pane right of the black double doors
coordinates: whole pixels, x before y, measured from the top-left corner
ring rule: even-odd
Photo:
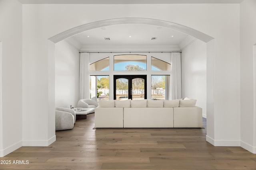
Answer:
[[[166,99],[166,94],[169,93],[168,80],[170,80],[170,76],[151,76],[152,99]]]

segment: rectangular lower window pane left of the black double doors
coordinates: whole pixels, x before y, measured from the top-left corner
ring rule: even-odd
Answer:
[[[109,100],[109,76],[90,76],[90,98]]]

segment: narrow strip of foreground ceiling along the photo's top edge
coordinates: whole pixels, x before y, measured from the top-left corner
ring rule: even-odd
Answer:
[[[22,4],[240,4],[243,0],[19,0]]]

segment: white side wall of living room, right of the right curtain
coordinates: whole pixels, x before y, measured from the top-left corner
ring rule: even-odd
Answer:
[[[206,118],[206,43],[196,39],[182,49],[182,98],[196,99]]]

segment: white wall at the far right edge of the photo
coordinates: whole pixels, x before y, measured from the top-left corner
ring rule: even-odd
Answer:
[[[256,1],[240,4],[241,145],[256,153]],[[256,53],[256,51],[254,52]],[[254,93],[253,93],[254,92]]]

